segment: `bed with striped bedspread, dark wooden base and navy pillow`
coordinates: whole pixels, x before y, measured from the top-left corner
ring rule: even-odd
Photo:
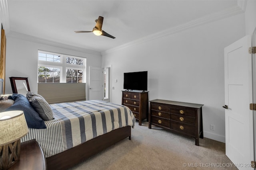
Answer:
[[[47,115],[44,110],[49,120],[41,120],[40,110],[28,95],[26,98],[13,94],[10,98],[14,104],[6,111],[17,109],[18,105],[28,120],[29,133],[21,142],[31,139],[38,141],[44,151],[48,170],[70,168],[118,141],[127,137],[131,139],[135,118],[126,106],[101,100],[50,104],[47,108],[52,114]],[[32,109],[35,112],[28,115]],[[39,118],[31,117],[36,113]]]

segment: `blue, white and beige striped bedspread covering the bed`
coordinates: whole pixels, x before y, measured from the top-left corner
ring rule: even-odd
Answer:
[[[51,104],[54,119],[46,129],[29,128],[21,142],[36,139],[50,157],[97,136],[125,126],[134,127],[132,111],[122,105],[101,100]]]

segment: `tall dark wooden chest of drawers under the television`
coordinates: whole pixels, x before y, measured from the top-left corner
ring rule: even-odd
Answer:
[[[122,105],[132,110],[139,125],[144,119],[148,121],[148,92],[122,91]]]

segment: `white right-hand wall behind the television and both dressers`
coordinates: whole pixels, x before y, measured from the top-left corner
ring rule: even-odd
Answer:
[[[147,70],[149,100],[204,104],[204,137],[225,142],[224,47],[244,37],[244,25],[239,14],[104,53],[102,65],[112,64],[112,102],[121,104],[124,72]]]

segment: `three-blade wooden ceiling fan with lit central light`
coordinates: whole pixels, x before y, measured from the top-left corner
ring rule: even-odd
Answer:
[[[108,33],[106,33],[105,31],[103,31],[102,28],[102,23],[103,23],[103,17],[99,16],[98,20],[95,20],[96,25],[95,27],[92,29],[92,31],[75,31],[76,33],[90,33],[93,32],[95,35],[103,35],[106,37],[110,37],[110,38],[116,38]]]

